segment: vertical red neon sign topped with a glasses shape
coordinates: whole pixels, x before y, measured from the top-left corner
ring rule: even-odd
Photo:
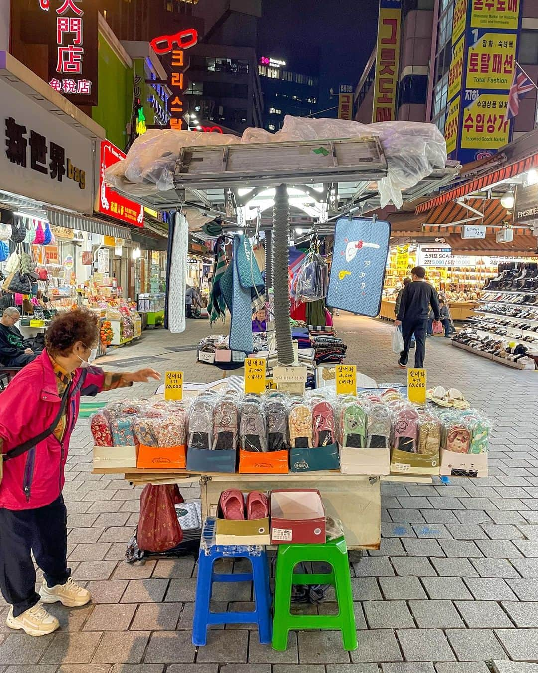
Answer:
[[[184,92],[187,88],[187,78],[184,75],[186,69],[185,51],[198,44],[198,32],[194,28],[180,30],[175,35],[161,35],[151,40],[153,51],[159,56],[171,52],[171,72],[168,77],[168,86],[171,96],[168,99],[168,112],[170,114],[167,127],[180,131],[186,128],[184,115],[188,112]]]

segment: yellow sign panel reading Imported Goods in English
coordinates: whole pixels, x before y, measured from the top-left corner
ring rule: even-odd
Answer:
[[[461,147],[498,149],[506,145],[510,131],[510,120],[506,119],[507,104],[508,94],[480,94],[465,107]]]

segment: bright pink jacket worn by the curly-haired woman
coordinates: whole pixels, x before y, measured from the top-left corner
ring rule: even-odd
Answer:
[[[75,369],[66,406],[63,440],[54,433],[35,448],[4,463],[0,484],[0,507],[36,509],[59,497],[65,483],[64,470],[69,437],[79,415],[81,395],[95,395],[104,386],[104,371],[98,367]],[[2,452],[36,437],[50,427],[60,411],[56,375],[46,351],[26,365],[0,394]]]

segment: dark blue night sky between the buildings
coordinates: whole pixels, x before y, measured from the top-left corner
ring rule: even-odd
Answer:
[[[334,106],[330,87],[356,85],[375,46],[378,7],[379,0],[263,0],[260,50],[295,72],[319,59],[319,110]]]

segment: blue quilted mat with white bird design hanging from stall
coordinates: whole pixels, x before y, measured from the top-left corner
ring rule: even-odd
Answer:
[[[390,238],[391,225],[383,220],[336,221],[329,306],[370,318],[379,315]]]

